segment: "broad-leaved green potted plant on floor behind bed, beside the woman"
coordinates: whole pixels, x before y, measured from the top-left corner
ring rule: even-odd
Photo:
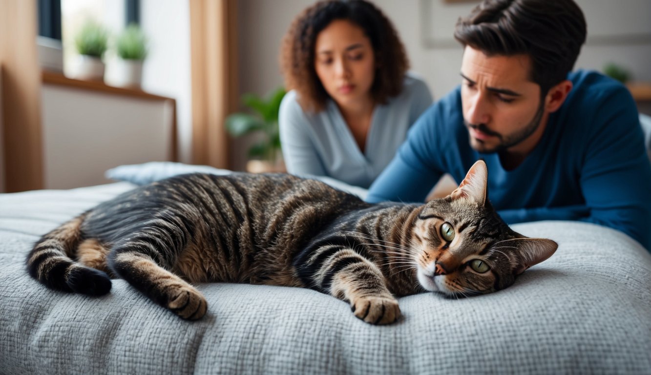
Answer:
[[[233,137],[257,133],[257,141],[249,148],[249,172],[284,172],[278,112],[285,94],[284,88],[274,90],[266,98],[244,94],[242,103],[251,113],[232,113],[226,118],[226,129]]]

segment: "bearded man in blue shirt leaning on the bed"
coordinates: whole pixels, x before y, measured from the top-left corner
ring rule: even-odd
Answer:
[[[484,0],[454,32],[462,85],[425,111],[367,200],[423,201],[443,173],[479,159],[507,223],[581,220],[651,251],[651,166],[635,102],[596,72],[572,72],[585,42],[572,0]]]

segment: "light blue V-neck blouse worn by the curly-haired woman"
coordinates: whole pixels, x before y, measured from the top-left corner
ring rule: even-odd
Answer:
[[[292,90],[284,96],[279,113],[287,171],[329,176],[368,188],[393,159],[411,125],[431,104],[432,94],[424,81],[408,74],[398,96],[385,105],[376,105],[365,152],[361,152],[333,100],[323,111],[306,113]]]

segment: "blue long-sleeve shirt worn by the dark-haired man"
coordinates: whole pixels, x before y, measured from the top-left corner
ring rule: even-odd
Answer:
[[[478,159],[488,197],[507,223],[581,220],[621,230],[651,251],[651,166],[630,92],[596,72],[577,71],[538,145],[516,169],[477,152],[464,126],[460,87],[428,108],[367,201],[423,201],[444,173],[461,182]]]

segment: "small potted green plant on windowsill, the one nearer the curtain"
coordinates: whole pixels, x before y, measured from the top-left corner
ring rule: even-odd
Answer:
[[[142,29],[132,24],[117,36],[115,85],[139,89],[143,81],[143,61],[147,56],[147,40]]]

